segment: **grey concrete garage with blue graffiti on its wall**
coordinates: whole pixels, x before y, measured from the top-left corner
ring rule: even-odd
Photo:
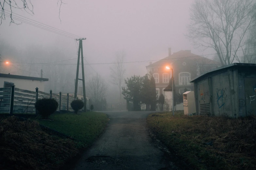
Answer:
[[[256,64],[234,63],[194,78],[196,115],[256,115]]]

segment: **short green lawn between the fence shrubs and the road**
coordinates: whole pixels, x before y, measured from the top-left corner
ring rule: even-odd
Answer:
[[[108,116],[100,112],[54,113],[50,119],[53,121],[36,120],[40,124],[80,140],[85,147],[94,142],[108,122]]]

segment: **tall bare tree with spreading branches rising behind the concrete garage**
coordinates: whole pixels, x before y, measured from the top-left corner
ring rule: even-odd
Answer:
[[[186,37],[196,48],[213,48],[221,65],[233,63],[255,24],[253,0],[196,0],[190,9]]]

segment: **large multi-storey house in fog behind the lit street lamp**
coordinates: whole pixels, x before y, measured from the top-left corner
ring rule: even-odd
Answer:
[[[169,55],[162,60],[146,66],[147,73],[152,74],[156,82],[157,98],[163,94],[163,90],[168,86],[171,80],[171,70],[167,70],[166,66],[173,69],[173,78],[176,92],[183,93],[185,88],[193,91],[193,83],[190,80],[201,75],[205,71],[215,69],[220,66],[219,63],[207,59],[202,56],[191,53],[191,50],[180,50]]]

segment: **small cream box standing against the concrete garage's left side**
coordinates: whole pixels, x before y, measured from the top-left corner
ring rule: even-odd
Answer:
[[[184,115],[196,113],[196,101],[194,91],[183,93]]]

